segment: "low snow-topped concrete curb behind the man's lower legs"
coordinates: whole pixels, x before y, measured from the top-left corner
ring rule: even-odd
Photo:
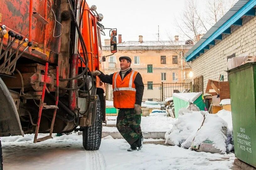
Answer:
[[[144,133],[142,132],[142,135],[145,139],[152,138],[152,139],[164,139],[164,135],[166,132],[148,132]],[[102,132],[102,138],[105,138],[106,136],[111,136],[115,139],[123,139],[122,135],[119,132]]]

